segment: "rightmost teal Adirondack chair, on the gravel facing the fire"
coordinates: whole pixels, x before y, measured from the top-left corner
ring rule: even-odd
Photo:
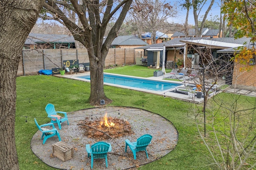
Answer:
[[[146,147],[151,143],[152,136],[149,134],[142,135],[137,139],[136,142],[130,142],[128,139],[125,140],[125,152],[127,150],[127,146],[130,147],[132,150],[134,159],[136,160],[136,152],[139,152],[141,150],[145,150],[147,158],[148,158],[148,152],[146,150]]]

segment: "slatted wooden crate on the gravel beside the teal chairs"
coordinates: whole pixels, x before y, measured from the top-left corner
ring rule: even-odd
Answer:
[[[74,156],[74,148],[62,141],[52,145],[52,153],[63,161],[70,160]]]

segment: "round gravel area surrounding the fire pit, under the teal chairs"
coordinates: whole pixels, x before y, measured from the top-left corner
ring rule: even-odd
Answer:
[[[94,159],[93,168],[101,170],[124,170],[136,169],[137,167],[161,158],[172,151],[178,142],[178,132],[172,123],[164,117],[134,107],[95,107],[83,109],[68,113],[68,121],[62,123],[62,129],[54,124],[60,133],[61,141],[74,147],[74,156],[72,159],[62,161],[52,154],[52,145],[58,142],[58,137],[54,136],[47,139],[42,145],[41,131],[37,131],[31,140],[31,149],[43,162],[54,168],[64,170],[89,170],[91,169],[91,158],[87,157],[85,149],[86,144],[92,145],[98,142],[98,139],[88,138],[83,135],[83,131],[77,123],[86,117],[100,118],[108,116],[127,120],[132,125],[132,131],[135,134],[122,136],[114,139],[106,139],[105,142],[111,143],[112,151],[108,153],[108,168],[106,168],[105,159]],[[148,159],[144,151],[136,153],[136,160],[133,158],[132,151],[128,147],[125,150],[125,139],[134,142],[138,137],[144,134],[152,135],[151,144],[148,145]]]

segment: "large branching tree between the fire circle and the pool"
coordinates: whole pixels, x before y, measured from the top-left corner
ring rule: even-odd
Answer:
[[[70,0],[72,6],[66,3],[66,1],[60,2],[62,1],[47,0],[44,4],[44,8],[53,14],[54,20],[64,23],[73,34],[74,39],[80,41],[88,50],[91,76],[90,104],[99,105],[100,100],[111,102],[104,93],[104,62],[112,41],[118,36],[118,30],[130,9],[132,0],[118,1],[120,4],[115,4],[113,0],[106,1],[106,4],[100,3],[101,1],[79,1],[81,3],[78,4],[77,0]],[[82,25],[77,25],[67,17],[66,14],[62,12],[62,8],[60,8],[61,4],[63,8],[72,7],[72,10],[76,12]],[[104,8],[101,5],[105,5]],[[102,10],[104,10],[103,16],[101,16]],[[120,10],[121,12],[119,12]],[[116,18],[115,24],[110,29],[103,43],[106,27],[110,19],[115,16],[116,12],[119,16]]]

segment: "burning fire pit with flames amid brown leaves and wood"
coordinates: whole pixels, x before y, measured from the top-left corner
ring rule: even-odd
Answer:
[[[84,131],[84,135],[89,138],[109,139],[134,133],[127,120],[108,117],[107,113],[104,117],[96,120],[86,117],[78,125],[81,125],[79,127]]]

